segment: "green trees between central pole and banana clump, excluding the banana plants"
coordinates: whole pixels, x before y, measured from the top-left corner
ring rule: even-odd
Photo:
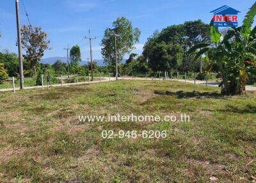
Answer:
[[[203,59],[198,61],[194,56],[186,54],[193,45],[211,40],[210,26],[204,24],[202,20],[189,21],[169,26],[161,32],[154,32],[143,47],[143,54],[141,56],[131,54],[127,63],[122,66],[124,55],[131,53],[135,48],[134,44],[139,42],[141,31],[133,28],[132,23],[125,17],[115,20],[112,27],[115,32],[113,29],[106,29],[101,45],[104,61],[113,73],[115,73],[116,63],[114,33],[118,35],[116,36],[117,60],[124,74],[129,74],[132,69],[137,72],[170,70],[202,72]]]

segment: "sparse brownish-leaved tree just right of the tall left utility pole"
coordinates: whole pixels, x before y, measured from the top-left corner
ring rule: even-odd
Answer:
[[[47,40],[47,33],[42,31],[40,27],[22,26],[21,44],[26,54],[23,57],[30,62],[33,68],[33,74],[36,74],[36,66],[44,56],[44,51],[49,49],[50,41]]]

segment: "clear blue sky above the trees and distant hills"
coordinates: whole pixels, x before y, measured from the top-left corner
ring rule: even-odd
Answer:
[[[20,1],[20,23],[28,24],[26,14]],[[29,14],[31,24],[41,26],[51,40],[51,51],[45,51],[44,58],[66,56],[63,50],[79,43],[83,60],[89,56],[88,29],[93,41],[93,59],[100,59],[100,40],[104,30],[111,27],[117,17],[127,17],[134,28],[140,28],[140,43],[136,44],[134,52],[140,53],[148,36],[155,30],[161,31],[173,24],[181,24],[188,20],[202,19],[209,22],[212,10],[227,5],[239,10],[239,24],[241,24],[253,0],[23,0]],[[8,49],[17,52],[15,40],[17,38],[15,22],[15,0],[1,1],[0,5],[0,50]],[[82,40],[82,41],[81,41]]]

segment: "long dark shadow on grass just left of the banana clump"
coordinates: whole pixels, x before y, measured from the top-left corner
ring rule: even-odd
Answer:
[[[186,99],[186,98],[196,98],[196,99],[205,99],[205,98],[214,98],[214,99],[225,99],[223,95],[217,92],[184,92],[184,91],[178,91],[178,92],[170,92],[170,91],[161,91],[161,90],[155,90],[155,94],[157,95],[170,95],[170,96],[177,96],[178,99]]]

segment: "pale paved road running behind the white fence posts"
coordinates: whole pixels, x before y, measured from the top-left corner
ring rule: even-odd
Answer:
[[[145,81],[145,80],[162,80],[163,79],[157,79],[157,78],[145,78],[145,77],[120,77],[120,79],[124,79],[124,80],[140,80],[140,81]],[[100,82],[109,82],[109,81],[115,81],[115,77],[102,77],[102,81],[91,81],[90,83],[100,83]],[[177,79],[168,79],[168,81],[177,81]],[[179,82],[185,82],[184,79],[179,79]],[[191,80],[186,80],[187,83],[194,83],[195,81],[191,81]],[[78,85],[80,84],[90,84],[88,81],[86,82],[81,82],[78,83]],[[196,84],[206,84],[205,81],[200,81],[200,80],[196,80]],[[215,82],[209,82],[207,83],[208,86],[218,86],[218,83]],[[77,85],[77,83],[63,83],[62,86],[72,86],[72,85]],[[51,87],[61,87],[61,84],[52,84]],[[29,87],[25,87],[24,90],[29,90],[29,89],[34,89],[34,88],[42,88],[42,86],[29,86]],[[47,88],[47,86],[44,86],[44,88]],[[15,88],[15,90],[20,90],[20,88]],[[256,92],[256,87],[255,86],[246,86],[246,91],[255,91]],[[7,89],[1,89],[0,92],[13,92],[13,88],[7,88]]]

